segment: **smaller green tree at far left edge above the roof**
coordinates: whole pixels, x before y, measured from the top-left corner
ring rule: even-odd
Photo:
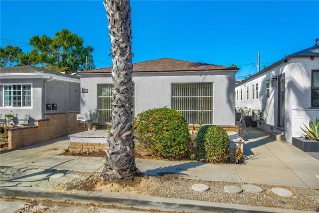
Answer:
[[[0,67],[8,67],[19,63],[18,55],[22,52],[18,46],[0,47]]]

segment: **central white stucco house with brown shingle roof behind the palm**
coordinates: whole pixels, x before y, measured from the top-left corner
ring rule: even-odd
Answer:
[[[238,68],[170,58],[133,64],[134,107],[137,114],[168,107],[189,124],[235,124],[235,73]],[[97,123],[111,120],[111,67],[77,72],[81,79],[81,114],[97,113]]]

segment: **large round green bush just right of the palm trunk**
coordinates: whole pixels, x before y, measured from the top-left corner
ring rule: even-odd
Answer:
[[[188,124],[176,110],[156,108],[137,115],[135,139],[140,147],[155,157],[182,159],[190,140]]]

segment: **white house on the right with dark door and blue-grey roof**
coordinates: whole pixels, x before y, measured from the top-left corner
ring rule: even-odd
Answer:
[[[236,107],[247,108],[257,127],[292,143],[319,118],[319,39],[236,84],[235,93]]]

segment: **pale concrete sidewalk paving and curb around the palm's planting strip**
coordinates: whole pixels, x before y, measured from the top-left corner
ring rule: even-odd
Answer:
[[[139,170],[148,176],[163,173],[179,174],[185,178],[209,181],[226,181],[243,184],[268,184],[319,189],[319,160],[284,141],[275,141],[268,133],[247,128],[244,137],[246,162],[236,164],[205,164],[192,161],[159,161],[136,159]],[[54,189],[32,187],[33,183],[59,179],[68,182],[69,171],[101,172],[104,157],[60,155],[69,146],[69,138],[62,137],[44,143],[19,148],[0,154],[1,196],[30,199],[57,199],[70,202],[102,202],[99,204],[128,204],[147,209],[147,206],[171,210],[232,212],[301,212],[276,208],[219,204],[168,198],[143,197],[121,194],[101,196],[97,192],[76,194],[55,192]],[[318,177],[317,177],[318,176]],[[140,206],[139,206],[140,205]],[[200,206],[202,205],[202,206]],[[166,208],[166,209],[165,209]],[[1,207],[2,209],[2,207]],[[223,211],[221,211],[223,210]],[[236,211],[235,211],[236,212]]]

